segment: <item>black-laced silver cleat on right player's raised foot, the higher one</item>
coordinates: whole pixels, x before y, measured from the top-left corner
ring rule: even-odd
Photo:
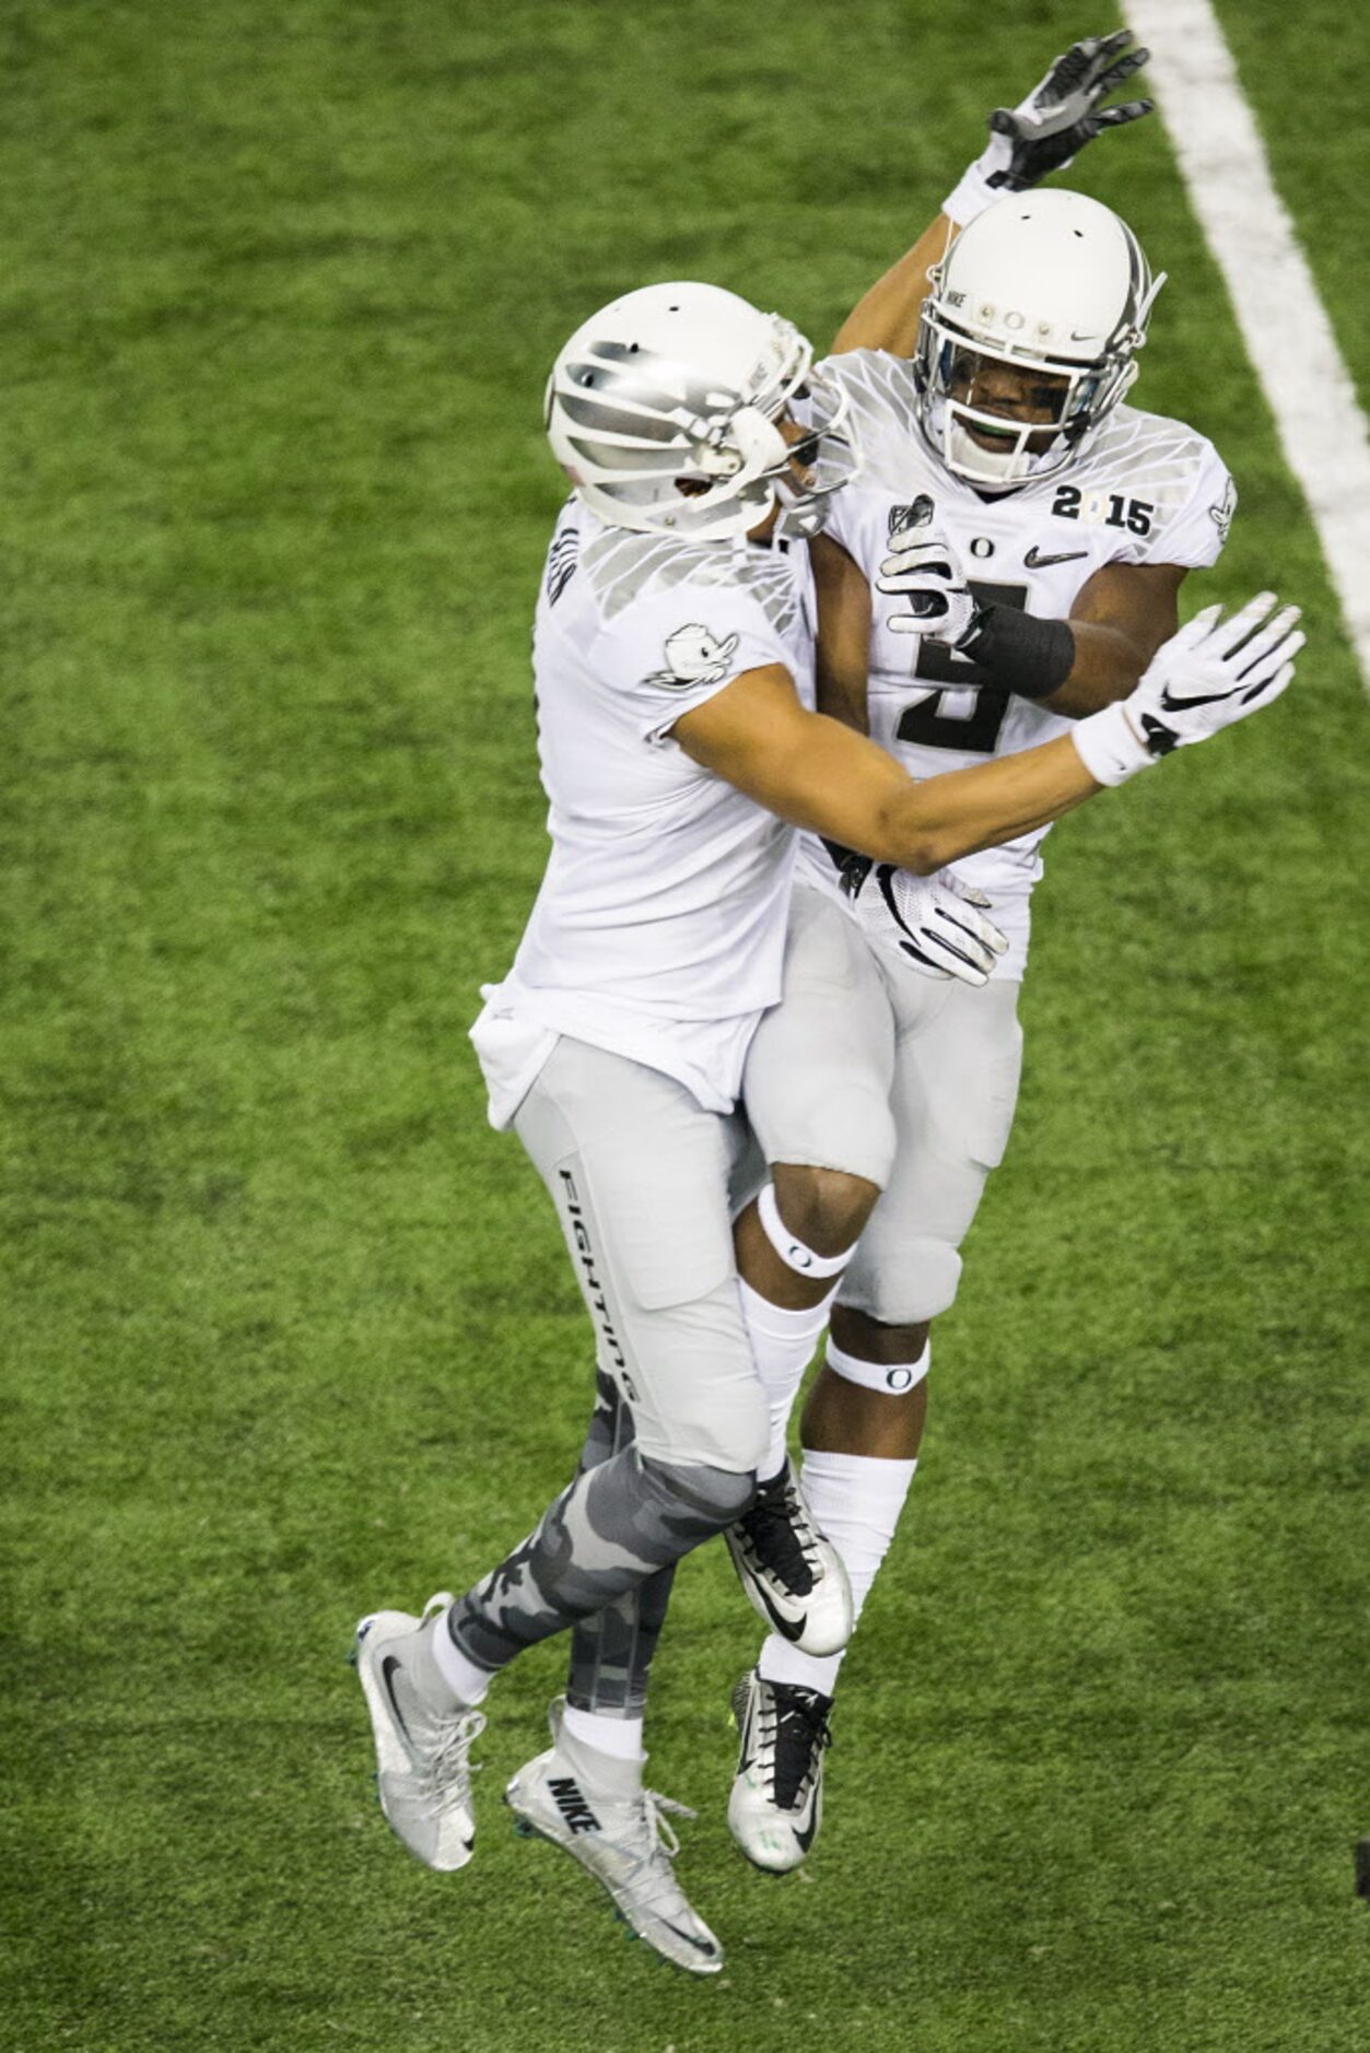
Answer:
[[[836,1655],[852,1636],[852,1591],[842,1556],[824,1540],[795,1464],[756,1493],[725,1536],[752,1607],[805,1655]]]

